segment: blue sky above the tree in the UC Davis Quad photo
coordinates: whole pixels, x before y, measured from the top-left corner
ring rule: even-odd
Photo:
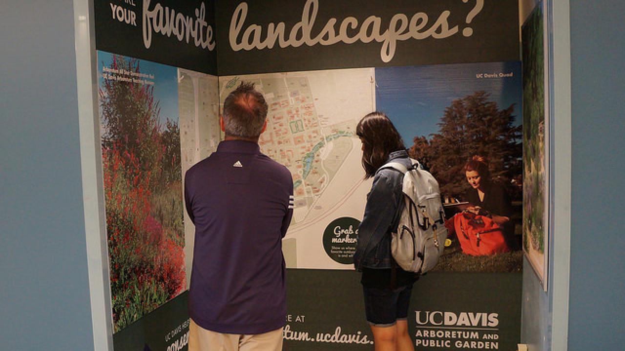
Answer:
[[[510,73],[512,77],[498,77]],[[478,74],[497,74],[478,78]],[[514,124],[522,122],[521,62],[446,64],[376,68],[376,109],[389,116],[406,147],[415,136],[439,131],[438,122],[451,102],[486,91],[499,109],[514,104]]]

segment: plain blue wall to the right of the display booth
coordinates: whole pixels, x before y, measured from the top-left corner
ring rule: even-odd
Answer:
[[[571,0],[571,351],[625,349],[622,5]]]

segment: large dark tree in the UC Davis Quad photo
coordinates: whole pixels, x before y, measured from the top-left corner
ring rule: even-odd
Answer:
[[[477,91],[452,101],[438,123],[439,132],[413,140],[411,157],[432,172],[443,195],[457,198],[469,189],[462,167],[474,155],[486,157],[494,179],[504,184],[514,179],[521,185],[521,126],[513,124],[514,105],[499,109],[488,98],[487,92]]]

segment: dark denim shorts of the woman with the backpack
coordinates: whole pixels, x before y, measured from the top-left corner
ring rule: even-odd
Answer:
[[[397,289],[362,287],[367,322],[376,327],[390,327],[397,320],[406,320],[412,284]]]

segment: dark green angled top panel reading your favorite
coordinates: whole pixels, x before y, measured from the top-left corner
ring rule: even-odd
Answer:
[[[216,45],[214,6],[212,0],[94,0],[96,49],[216,74],[216,47],[201,44]]]

